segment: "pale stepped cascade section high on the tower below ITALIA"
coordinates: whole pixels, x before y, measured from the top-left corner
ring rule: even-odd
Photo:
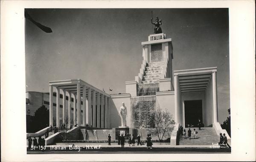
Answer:
[[[163,71],[163,62],[150,62],[147,64],[142,79],[143,84],[159,83]]]

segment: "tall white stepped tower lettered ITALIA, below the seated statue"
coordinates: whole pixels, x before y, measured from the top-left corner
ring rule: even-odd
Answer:
[[[141,42],[143,61],[135,81],[126,81],[126,93],[131,97],[155,95],[158,91],[172,91],[172,39],[166,34],[151,34]]]

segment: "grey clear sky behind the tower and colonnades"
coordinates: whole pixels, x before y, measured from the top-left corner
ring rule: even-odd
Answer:
[[[111,94],[125,93],[143,61],[141,42],[159,17],[172,38],[173,70],[217,68],[218,120],[230,108],[228,9],[28,9],[45,33],[25,20],[26,91],[49,92],[49,81],[80,78]]]

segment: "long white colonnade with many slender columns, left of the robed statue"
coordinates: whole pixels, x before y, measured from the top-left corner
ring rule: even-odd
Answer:
[[[53,101],[53,87],[55,87],[56,91],[56,105],[53,105],[55,103]],[[77,126],[94,128],[109,127],[108,100],[110,95],[87,84],[81,79],[49,82],[49,126],[54,126],[53,123],[56,123],[57,127],[61,125],[60,89],[63,95],[62,123],[67,124],[68,127],[76,124]],[[68,105],[66,105],[66,92],[68,95]],[[71,104],[72,102],[73,105]],[[54,106],[56,107],[56,117],[53,116]],[[65,112],[66,110],[67,114]],[[54,122],[53,118],[56,119],[56,122]]]

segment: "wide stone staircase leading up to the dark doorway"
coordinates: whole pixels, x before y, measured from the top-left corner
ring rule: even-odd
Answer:
[[[218,143],[219,142],[219,136],[216,134],[216,131],[213,127],[203,127],[201,130],[198,130],[198,128],[195,128],[196,131],[198,131],[198,138],[195,139],[193,135],[194,128],[190,128],[191,133],[191,139],[189,140],[188,137],[188,130],[186,129],[186,139],[184,139],[184,136],[180,136],[179,145],[212,145],[212,143]]]

